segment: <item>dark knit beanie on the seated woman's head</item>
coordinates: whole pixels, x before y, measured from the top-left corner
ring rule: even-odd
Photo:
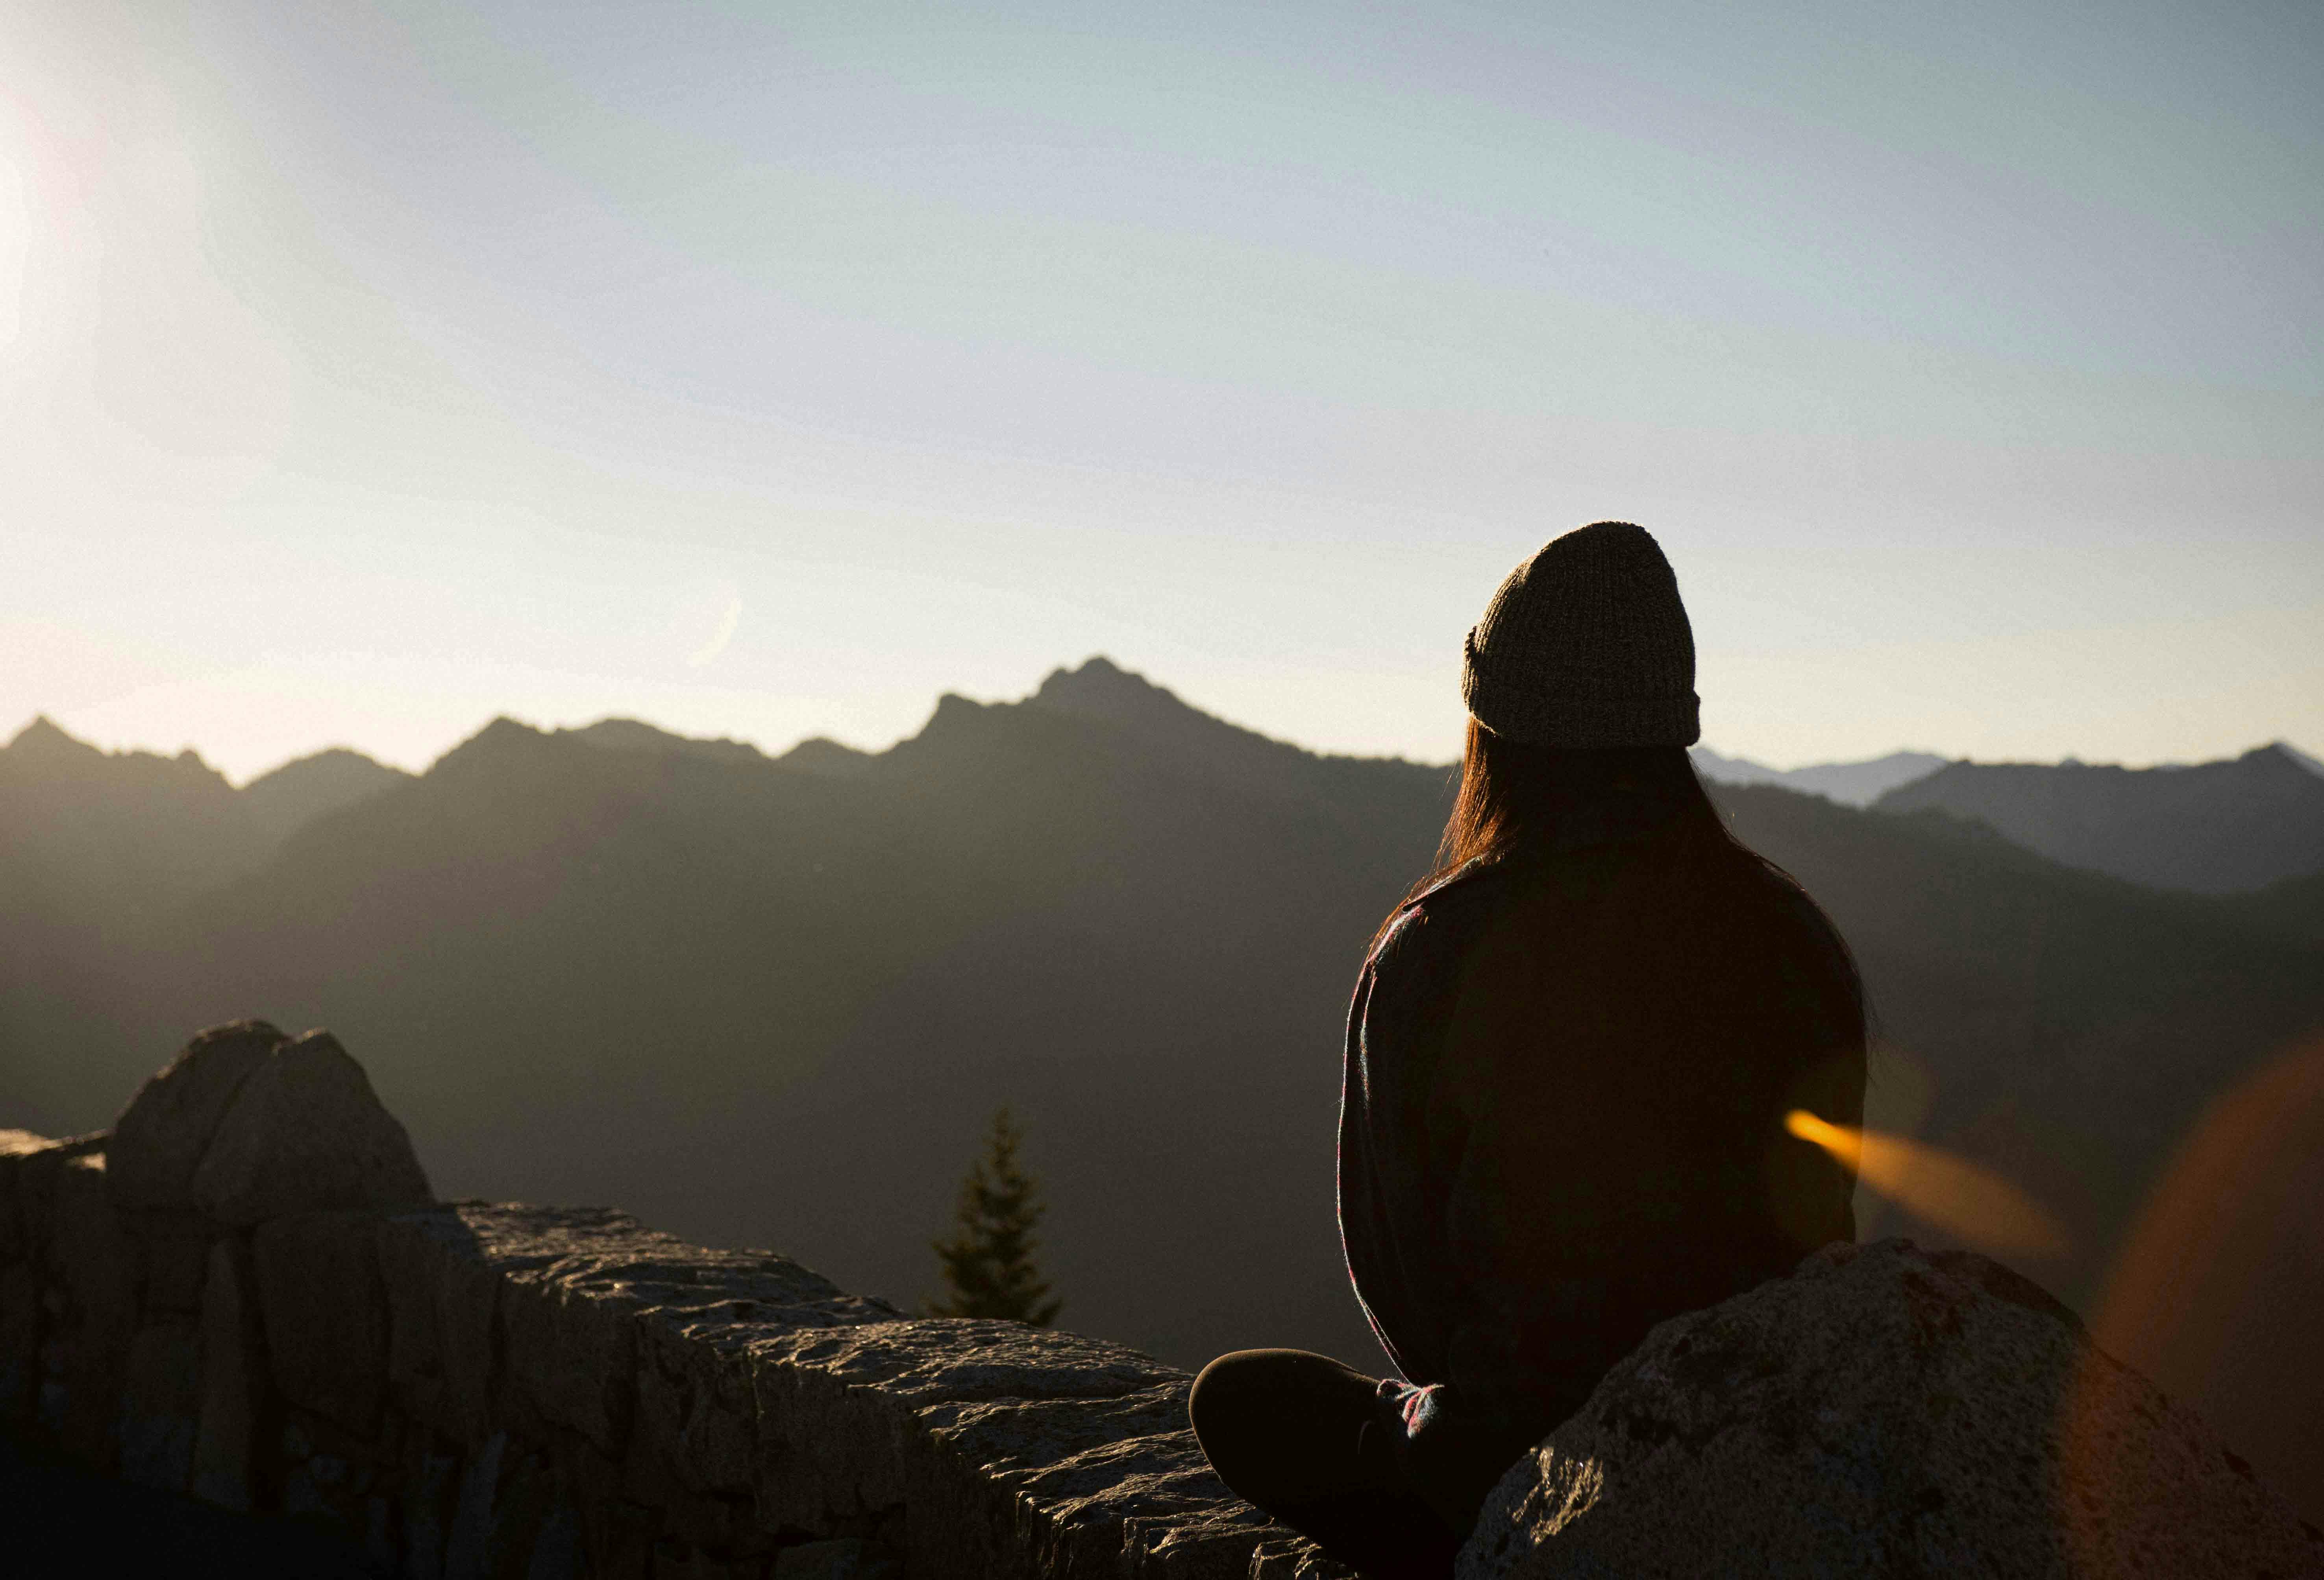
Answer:
[[[1597,520],[1508,574],[1469,632],[1469,716],[1536,746],[1694,746],[1694,630],[1645,527]]]

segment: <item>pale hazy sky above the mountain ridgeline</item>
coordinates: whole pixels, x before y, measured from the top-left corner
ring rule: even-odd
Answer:
[[[2324,12],[12,0],[0,734],[1448,760],[1648,525],[1771,764],[2324,753]]]

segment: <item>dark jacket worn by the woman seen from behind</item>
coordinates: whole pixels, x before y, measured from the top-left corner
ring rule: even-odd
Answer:
[[[1692,841],[1692,843],[1690,843]],[[1822,913],[1699,832],[1471,862],[1383,929],[1348,1013],[1339,1222],[1455,1527],[1664,1317],[1836,1238],[1855,1180],[1785,1129],[1864,1111]]]

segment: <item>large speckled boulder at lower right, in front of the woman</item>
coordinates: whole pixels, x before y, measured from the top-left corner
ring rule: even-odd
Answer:
[[[2324,1536],[2036,1285],[1880,1241],[1657,1327],[1457,1573],[2289,1578]]]

